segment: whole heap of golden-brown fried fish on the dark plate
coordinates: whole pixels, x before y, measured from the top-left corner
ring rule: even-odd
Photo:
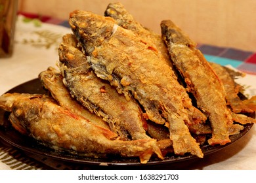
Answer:
[[[0,97],[20,133],[79,156],[147,163],[152,155],[203,158],[200,144],[227,144],[255,123],[247,114],[256,99],[242,101],[234,81],[244,74],[209,63],[171,20],[158,35],[110,3],[104,16],[71,12],[69,24],[58,69],[39,74],[51,95]]]

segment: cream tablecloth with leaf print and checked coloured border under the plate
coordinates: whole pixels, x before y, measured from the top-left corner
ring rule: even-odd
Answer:
[[[41,71],[58,60],[62,35],[71,33],[68,21],[22,13],[18,16],[14,54],[0,59],[0,95],[14,86],[37,78]],[[248,43],[249,44],[249,43]],[[245,86],[245,95],[256,95],[256,53],[234,48],[198,44],[208,61],[247,73],[237,80]],[[238,142],[196,161],[162,165],[160,169],[256,169],[256,129]],[[102,166],[56,161],[14,148],[0,139],[0,169],[104,169]],[[123,169],[131,167],[122,167]],[[136,168],[136,167],[135,167]],[[143,169],[155,167],[143,167]],[[108,167],[109,169],[109,167]]]

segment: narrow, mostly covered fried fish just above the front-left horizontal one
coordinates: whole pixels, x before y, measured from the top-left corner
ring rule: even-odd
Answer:
[[[102,118],[89,112],[89,110],[85,109],[78,101],[71,97],[70,93],[68,92],[68,89],[66,88],[66,86],[64,86],[62,82],[62,75],[60,75],[60,73],[56,69],[54,69],[53,67],[49,67],[47,71],[43,71],[39,74],[39,78],[43,86],[51,92],[52,96],[54,97],[54,99],[56,99],[56,101],[58,101],[60,106],[67,108],[75,114],[87,118],[90,122],[92,122],[95,125],[99,125],[100,127],[110,129],[108,124],[106,124],[106,122],[104,122]],[[147,125],[147,131],[150,131],[150,137],[158,141],[158,147],[162,152],[173,152],[171,148],[172,142],[169,139],[169,133],[167,133],[166,131],[167,129],[162,129],[163,131],[161,131],[160,128],[155,129],[155,125],[156,124]],[[155,138],[163,137],[164,135],[165,138]],[[169,139],[169,141],[167,141],[166,139]]]

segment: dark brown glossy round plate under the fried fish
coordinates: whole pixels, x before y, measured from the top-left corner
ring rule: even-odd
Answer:
[[[34,79],[31,81],[28,81],[24,84],[20,84],[19,86],[16,86],[15,88],[12,88],[12,90],[8,91],[9,93],[42,93],[47,94],[47,91],[45,91],[42,86],[39,79]],[[130,165],[130,166],[136,166],[136,165],[142,165],[139,161],[139,158],[118,158],[118,157],[108,157],[106,159],[94,159],[94,158],[84,158],[81,156],[75,156],[73,154],[68,153],[62,153],[57,152],[55,150],[52,150],[51,148],[47,148],[46,146],[43,146],[39,144],[37,141],[33,140],[30,137],[26,137],[24,135],[21,135],[18,133],[18,131],[14,130],[8,121],[9,112],[5,112],[4,110],[0,109],[0,138],[4,141],[8,142],[12,146],[15,146],[17,148],[20,148],[21,150],[24,150],[26,152],[30,152],[32,154],[38,154],[41,156],[47,156],[48,158],[54,158],[59,159],[62,161],[70,161],[74,163],[84,163],[87,165]],[[253,124],[247,124],[244,125],[244,129],[241,131],[238,135],[232,135],[230,136],[231,142],[226,144],[225,146],[209,146],[209,145],[203,145],[202,151],[204,155],[211,154],[213,152],[217,152],[218,150],[221,150],[223,148],[226,148],[226,146],[234,143],[241,137],[243,137],[253,126]],[[163,160],[160,160],[158,158],[152,157],[150,161],[146,165],[160,165],[160,164],[166,164],[166,163],[175,163],[178,161],[185,161],[190,159],[196,159],[196,156],[192,156],[190,154],[185,156],[175,156],[175,155],[169,155],[165,157]]]

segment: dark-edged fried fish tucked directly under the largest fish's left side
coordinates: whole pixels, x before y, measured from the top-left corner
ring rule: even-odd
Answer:
[[[83,106],[102,116],[121,139],[149,139],[146,119],[135,100],[127,101],[110,84],[98,78],[83,52],[75,47],[74,35],[65,35],[59,48],[60,70],[66,86]]]

